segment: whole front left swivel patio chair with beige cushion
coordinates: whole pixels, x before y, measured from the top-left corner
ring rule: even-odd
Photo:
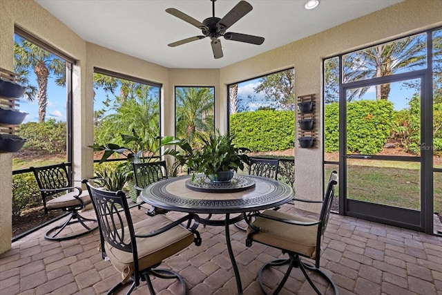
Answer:
[[[83,182],[99,220],[102,256],[111,260],[122,274],[122,280],[108,294],[114,294],[120,287],[132,282],[126,293],[131,294],[140,285],[140,280],[145,280],[151,294],[155,294],[149,275],[177,279],[182,286],[182,294],[185,294],[186,284],[180,274],[157,267],[162,260],[192,243],[201,245],[200,233],[196,230],[198,215],[189,213],[173,221],[160,214],[133,223],[123,191],[103,191],[93,186],[93,180]]]

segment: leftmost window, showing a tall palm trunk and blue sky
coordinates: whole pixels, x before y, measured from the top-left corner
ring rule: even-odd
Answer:
[[[17,83],[26,86],[19,109],[28,113],[16,134],[28,141],[15,153],[12,169],[70,162],[74,60],[19,28],[15,32]]]

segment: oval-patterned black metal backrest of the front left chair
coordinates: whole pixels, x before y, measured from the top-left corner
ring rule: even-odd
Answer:
[[[121,251],[132,252],[137,262],[137,244],[131,213],[123,191],[104,191],[94,186],[94,180],[83,180],[97,214],[102,243]],[[102,251],[104,251],[102,245]],[[104,255],[104,254],[103,254]]]

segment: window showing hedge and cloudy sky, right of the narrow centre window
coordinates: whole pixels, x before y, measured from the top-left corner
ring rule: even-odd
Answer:
[[[294,155],[294,69],[229,85],[229,131],[252,153]]]

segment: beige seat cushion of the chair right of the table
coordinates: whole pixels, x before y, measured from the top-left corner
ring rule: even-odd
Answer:
[[[300,222],[316,222],[314,219],[275,210],[265,210],[263,214]],[[253,240],[280,249],[294,251],[310,258],[315,258],[318,225],[307,227],[302,225],[289,225],[288,223],[261,217],[256,218],[253,225],[260,227],[260,231],[251,236]],[[247,229],[247,234],[249,234],[250,231],[251,228],[249,227]]]

